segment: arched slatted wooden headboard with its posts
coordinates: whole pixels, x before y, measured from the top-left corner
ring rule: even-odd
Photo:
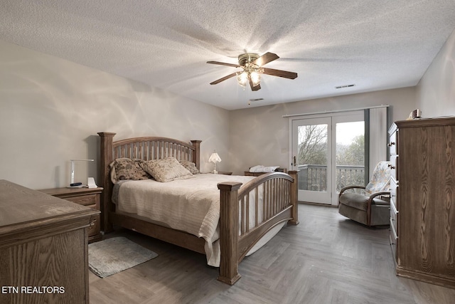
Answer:
[[[101,227],[107,232],[112,229],[107,216],[114,210],[111,202],[112,182],[109,164],[114,159],[128,157],[132,159],[161,159],[176,157],[178,160],[191,160],[200,169],[200,140],[191,140],[191,144],[167,137],[134,137],[114,142],[115,133],[98,132],[100,143],[100,186],[104,188],[101,196]]]

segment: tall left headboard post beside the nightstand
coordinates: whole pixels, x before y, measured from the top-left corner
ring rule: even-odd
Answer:
[[[109,211],[112,195],[112,183],[109,177],[109,164],[112,162],[112,142],[115,133],[99,132],[100,142],[100,179],[104,188],[101,194],[101,230],[105,233],[112,231],[112,224],[109,222]]]

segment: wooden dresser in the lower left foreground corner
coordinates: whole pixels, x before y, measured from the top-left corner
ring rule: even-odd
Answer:
[[[99,212],[0,180],[0,303],[89,303],[87,228]]]

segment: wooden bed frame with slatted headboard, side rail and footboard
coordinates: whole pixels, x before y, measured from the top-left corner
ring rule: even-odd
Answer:
[[[109,175],[109,164],[114,159],[161,159],[176,157],[191,160],[200,168],[200,140],[190,143],[166,137],[135,137],[114,142],[115,133],[99,132],[100,142],[100,183],[104,188],[101,201],[101,227],[105,233],[112,231],[112,225],[122,226],[141,234],[173,243],[183,248],[205,254],[205,241],[193,234],[151,224],[124,214],[115,213],[112,204],[113,184]],[[297,214],[297,172],[288,174],[273,172],[256,177],[254,181],[240,188],[240,182],[222,182],[220,189],[220,276],[218,280],[233,285],[239,278],[238,264],[248,251],[275,226],[288,221],[299,224]],[[260,190],[259,190],[260,189]],[[262,223],[249,223],[249,193],[262,191]],[[256,195],[255,197],[258,197]],[[255,204],[259,204],[257,199]],[[239,214],[240,212],[240,214]],[[240,219],[240,220],[239,220]],[[253,226],[253,228],[250,228]],[[239,233],[240,231],[240,233]]]

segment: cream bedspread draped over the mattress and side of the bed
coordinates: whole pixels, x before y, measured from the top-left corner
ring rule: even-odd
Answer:
[[[222,174],[196,174],[191,179],[156,182],[152,179],[124,182],[119,187],[117,209],[166,223],[205,240],[210,266],[220,266],[218,221],[220,182],[246,184],[255,177]],[[153,194],[151,194],[153,193]]]

